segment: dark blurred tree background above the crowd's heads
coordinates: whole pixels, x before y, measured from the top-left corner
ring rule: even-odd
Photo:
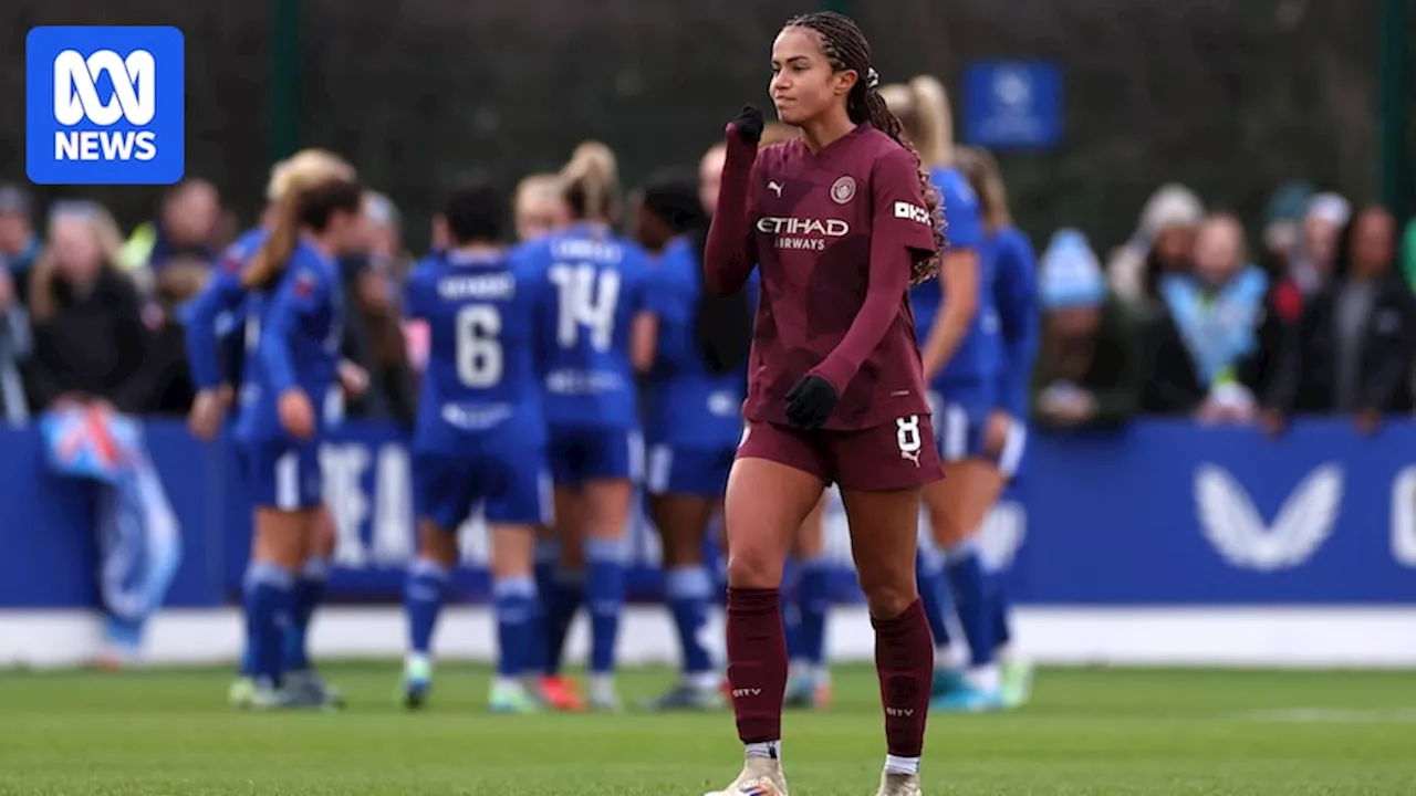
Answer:
[[[1392,3],[1406,0],[1388,0],[1388,13]],[[221,186],[249,221],[272,152],[331,147],[395,198],[421,244],[440,188],[469,174],[510,187],[558,167],[586,137],[619,152],[629,183],[691,166],[743,102],[767,103],[772,37],[789,16],[818,6],[7,0],[0,93],[11,113],[0,118],[0,180],[24,176],[30,27],[173,24],[187,37],[188,174]],[[956,92],[956,112],[970,59],[1062,67],[1062,144],[1003,157],[1020,221],[1035,235],[1078,225],[1099,246],[1116,245],[1168,181],[1249,221],[1291,178],[1357,203],[1383,188],[1381,113],[1393,78],[1383,84],[1379,1],[869,0],[850,10],[886,82],[937,75]],[[1388,44],[1416,38],[1413,17],[1402,21],[1403,31],[1385,31]],[[299,35],[287,35],[295,27]],[[272,93],[273,67],[297,74],[297,85],[282,79]],[[1416,116],[1409,74],[1398,76],[1405,112]],[[1386,150],[1409,163],[1416,125],[1405,130]],[[133,224],[152,214],[160,190],[85,193]]]

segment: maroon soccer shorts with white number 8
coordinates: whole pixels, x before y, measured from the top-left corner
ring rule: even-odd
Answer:
[[[748,421],[739,459],[769,459],[841,489],[888,491],[943,477],[929,415],[860,431],[806,431]]]

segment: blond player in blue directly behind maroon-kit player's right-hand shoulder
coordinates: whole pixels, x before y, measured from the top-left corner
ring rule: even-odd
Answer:
[[[944,457],[944,479],[925,487],[930,531],[943,558],[919,559],[920,592],[930,609],[930,627],[939,649],[935,654],[933,691],[946,710],[983,710],[1000,700],[998,670],[994,666],[993,616],[988,612],[988,579],[969,537],[997,500],[988,493],[994,474],[977,459],[1001,452],[1007,425],[994,416],[997,374],[1001,363],[998,317],[993,306],[988,262],[980,259],[984,245],[978,197],[954,167],[953,122],[949,99],[939,81],[919,76],[909,85],[885,86],[891,110],[906,135],[916,142],[930,166],[949,214],[949,254],[940,280],[916,288],[910,302],[919,319],[920,356]],[[964,683],[954,674],[944,620],[946,576],[953,603],[969,639],[973,667]]]

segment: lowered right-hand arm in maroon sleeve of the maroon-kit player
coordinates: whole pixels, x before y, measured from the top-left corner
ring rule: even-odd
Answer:
[[[877,163],[871,188],[875,205],[865,300],[845,337],[810,373],[828,381],[837,395],[844,394],[845,385],[899,317],[915,258],[935,248],[919,176],[905,150],[892,152]]]

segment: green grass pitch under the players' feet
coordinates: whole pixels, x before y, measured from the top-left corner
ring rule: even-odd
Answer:
[[[700,796],[741,765],[726,712],[491,717],[487,671],[449,666],[409,715],[394,664],[327,673],[343,714],[234,712],[225,670],[0,674],[0,793]],[[626,673],[624,697],[668,677]],[[793,796],[875,793],[868,669],[784,734]],[[1046,670],[1022,711],[932,718],[923,775],[929,796],[1416,796],[1416,676]]]

